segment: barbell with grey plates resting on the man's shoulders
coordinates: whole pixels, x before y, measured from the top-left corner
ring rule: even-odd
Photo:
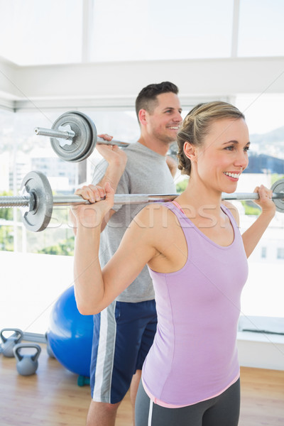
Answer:
[[[121,141],[105,141],[97,137],[94,121],[79,111],[68,111],[55,120],[51,129],[35,127],[38,136],[49,136],[51,147],[59,158],[77,163],[92,154],[97,143],[103,145],[129,146]]]

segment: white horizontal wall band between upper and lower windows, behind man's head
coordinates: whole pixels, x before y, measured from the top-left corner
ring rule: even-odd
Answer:
[[[16,109],[57,107],[133,107],[139,90],[170,80],[183,104],[236,94],[284,93],[284,57],[104,62],[96,64],[4,67],[0,90]]]

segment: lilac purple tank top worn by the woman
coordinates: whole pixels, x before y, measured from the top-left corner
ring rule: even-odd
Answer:
[[[241,234],[229,209],[222,210],[234,229],[230,246],[205,236],[171,202],[187,241],[180,271],[150,271],[158,327],[143,365],[149,395],[168,405],[191,405],[219,395],[239,377],[236,333],[241,290],[248,263]]]

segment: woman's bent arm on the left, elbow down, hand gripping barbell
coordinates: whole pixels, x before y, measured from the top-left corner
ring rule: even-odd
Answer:
[[[72,209],[77,221],[75,238],[74,275],[75,297],[83,315],[101,312],[155,256],[153,230],[148,226],[148,207],[143,209],[124,234],[119,249],[109,263],[101,269],[99,264],[99,238],[102,220],[112,207],[114,190],[107,184],[106,200],[80,205]],[[80,195],[92,201],[92,185],[80,190]]]

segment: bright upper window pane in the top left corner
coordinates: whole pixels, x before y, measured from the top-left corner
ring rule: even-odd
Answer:
[[[19,65],[80,62],[82,1],[0,0],[0,40]]]

